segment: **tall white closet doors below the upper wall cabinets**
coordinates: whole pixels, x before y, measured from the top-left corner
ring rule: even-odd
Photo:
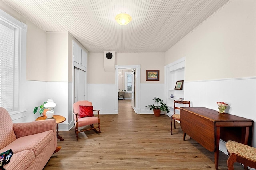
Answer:
[[[74,102],[85,100],[86,72],[74,67]]]

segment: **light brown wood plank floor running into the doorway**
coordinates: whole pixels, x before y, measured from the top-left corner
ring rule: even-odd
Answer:
[[[97,109],[97,108],[94,108]],[[137,115],[130,100],[119,100],[117,115],[100,115],[102,133],[60,131],[62,149],[44,170],[214,170],[214,152],[193,139],[182,140],[179,123],[170,133],[170,117]],[[227,170],[228,156],[220,152],[219,169]],[[243,166],[235,164],[235,170]]]

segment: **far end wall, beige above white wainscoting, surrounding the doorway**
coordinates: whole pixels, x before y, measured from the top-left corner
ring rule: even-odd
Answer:
[[[104,53],[89,53],[88,100],[101,114],[115,114],[115,73],[104,71]],[[153,114],[144,106],[153,104],[154,97],[164,99],[164,53],[116,53],[116,65],[140,65],[140,106],[138,112]],[[146,70],[160,70],[159,81],[146,81]],[[149,93],[150,92],[150,93]]]

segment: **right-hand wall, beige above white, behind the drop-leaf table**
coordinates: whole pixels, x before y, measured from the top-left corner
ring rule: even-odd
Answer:
[[[166,51],[166,65],[186,57],[185,100],[256,121],[256,1],[233,0]],[[253,146],[256,147],[254,125]]]

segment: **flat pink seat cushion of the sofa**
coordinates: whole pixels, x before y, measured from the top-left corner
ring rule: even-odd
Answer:
[[[37,156],[44,147],[54,138],[53,131],[45,131],[34,135],[28,135],[17,138],[15,141],[4,147],[0,152],[12,149],[13,153],[18,153],[24,150],[33,150],[35,156]],[[2,153],[1,152],[1,153]]]

